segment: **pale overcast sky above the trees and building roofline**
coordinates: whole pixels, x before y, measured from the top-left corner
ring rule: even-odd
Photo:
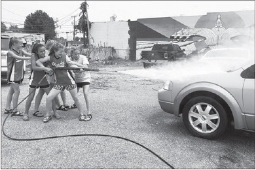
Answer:
[[[79,19],[80,4],[83,1],[1,1],[1,21],[9,27],[24,26],[28,14],[43,10],[55,21],[58,37],[72,39],[73,18]],[[87,1],[90,22],[109,22],[115,14],[116,21],[137,20],[168,16],[194,16],[206,12],[255,10],[255,1]],[[76,35],[81,37],[81,34]]]

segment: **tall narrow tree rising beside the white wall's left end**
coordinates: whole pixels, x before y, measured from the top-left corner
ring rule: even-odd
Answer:
[[[82,33],[82,37],[84,40],[84,48],[86,47],[86,39],[85,39],[85,33],[86,37],[88,38],[88,25],[87,25],[87,18],[86,18],[86,12],[87,12],[87,4],[86,2],[81,3],[80,9],[82,10],[79,14],[79,16],[82,16],[79,18],[78,25],[75,26],[76,29],[78,29]],[[92,26],[92,23],[89,22],[89,28]]]

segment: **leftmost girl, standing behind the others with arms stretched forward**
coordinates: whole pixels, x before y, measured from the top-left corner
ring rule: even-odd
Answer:
[[[7,53],[7,83],[10,84],[10,90],[7,95],[5,114],[10,113],[10,103],[13,108],[18,104],[20,95],[20,84],[24,78],[24,60],[30,59],[31,54],[22,50],[23,41],[18,37],[10,38],[9,52]],[[29,56],[29,57],[24,57]],[[12,110],[12,116],[22,116],[23,113],[17,109]]]

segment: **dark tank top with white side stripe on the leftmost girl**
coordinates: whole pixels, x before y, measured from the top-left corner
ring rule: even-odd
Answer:
[[[17,56],[23,57],[23,51],[16,51],[13,48],[10,50]],[[24,78],[24,60],[12,58],[7,54],[7,81],[21,81]]]

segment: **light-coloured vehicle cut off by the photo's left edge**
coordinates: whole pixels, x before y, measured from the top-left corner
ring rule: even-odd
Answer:
[[[7,78],[7,52],[9,49],[9,36],[1,36],[1,78]]]

